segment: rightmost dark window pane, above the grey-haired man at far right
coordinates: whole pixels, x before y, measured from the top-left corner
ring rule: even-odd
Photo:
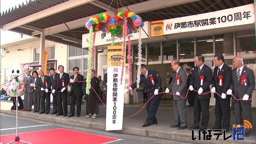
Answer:
[[[236,38],[236,53],[240,54],[253,54],[255,53],[255,36],[246,36]]]

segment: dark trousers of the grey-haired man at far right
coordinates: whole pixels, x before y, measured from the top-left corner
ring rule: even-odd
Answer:
[[[234,112],[236,124],[244,125],[243,120],[248,120],[252,124],[252,104],[242,104],[241,100],[236,100],[234,103]],[[243,115],[242,115],[243,112]],[[253,126],[253,124],[252,124]],[[245,128],[244,132],[251,132],[251,128]]]

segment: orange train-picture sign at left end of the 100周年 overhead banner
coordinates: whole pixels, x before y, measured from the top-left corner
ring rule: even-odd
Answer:
[[[164,20],[158,20],[151,22],[151,36],[164,35]]]

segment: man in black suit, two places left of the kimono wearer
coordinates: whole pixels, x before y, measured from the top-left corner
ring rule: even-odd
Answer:
[[[58,66],[60,71],[60,81],[58,84],[58,92],[57,93],[57,104],[58,104],[58,114],[56,116],[67,116],[68,115],[68,84],[69,84],[69,75],[64,72],[64,66]],[[63,108],[62,108],[63,106]]]

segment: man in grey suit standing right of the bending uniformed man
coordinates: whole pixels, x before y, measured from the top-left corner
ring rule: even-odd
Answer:
[[[178,127],[178,130],[183,130],[187,128],[187,110],[186,99],[181,98],[181,96],[185,97],[187,94],[187,74],[185,70],[180,67],[178,60],[172,60],[171,65],[174,70],[174,75],[172,83],[165,90],[165,93],[169,93],[171,90],[173,94],[176,94],[173,96],[172,100],[175,124],[171,125],[170,128]]]

